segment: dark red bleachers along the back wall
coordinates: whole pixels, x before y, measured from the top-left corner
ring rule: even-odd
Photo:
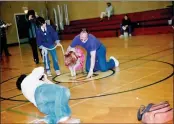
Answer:
[[[157,9],[144,12],[127,13],[132,21],[132,35],[150,35],[158,33],[170,33],[172,27],[168,20],[172,17],[172,8]],[[90,18],[74,20],[65,30],[60,32],[61,39],[73,39],[82,28],[87,28],[96,37],[118,37],[120,35],[120,24],[124,14],[113,15],[110,20],[105,18]]]

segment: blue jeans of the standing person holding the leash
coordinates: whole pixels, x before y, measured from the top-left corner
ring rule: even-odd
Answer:
[[[54,46],[51,46],[50,48],[53,48]],[[58,65],[58,57],[57,57],[57,53],[56,50],[48,50],[48,52],[51,54],[52,60],[53,60],[53,67],[54,70],[59,70],[59,65]],[[49,60],[49,56],[47,54],[47,56],[44,56],[44,66],[46,70],[50,70],[50,60]]]

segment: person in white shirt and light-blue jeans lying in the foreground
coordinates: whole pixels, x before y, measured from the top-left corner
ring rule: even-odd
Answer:
[[[49,81],[43,67],[35,68],[28,76],[21,75],[16,86],[40,112],[47,115],[42,121],[52,124],[80,123],[80,119],[71,118],[69,89]]]

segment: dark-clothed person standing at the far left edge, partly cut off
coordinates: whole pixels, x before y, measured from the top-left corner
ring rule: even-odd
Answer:
[[[11,56],[11,54],[8,51],[7,46],[7,36],[6,36],[6,30],[9,26],[11,26],[11,23],[5,23],[3,20],[0,19],[0,58],[2,59],[2,53],[5,52],[5,56]]]

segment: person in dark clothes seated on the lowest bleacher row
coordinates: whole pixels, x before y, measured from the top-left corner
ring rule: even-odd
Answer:
[[[121,33],[120,38],[123,37],[125,31],[128,31],[130,37],[132,36],[131,20],[128,17],[128,15],[124,16],[122,23],[120,25],[120,33]]]

